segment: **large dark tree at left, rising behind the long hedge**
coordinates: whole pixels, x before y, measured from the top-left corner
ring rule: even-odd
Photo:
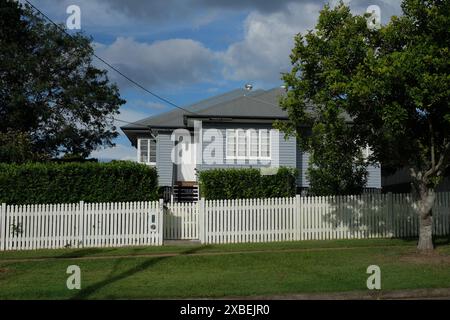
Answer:
[[[0,133],[26,135],[32,153],[47,157],[112,146],[112,117],[125,101],[92,56],[91,39],[0,0]]]

